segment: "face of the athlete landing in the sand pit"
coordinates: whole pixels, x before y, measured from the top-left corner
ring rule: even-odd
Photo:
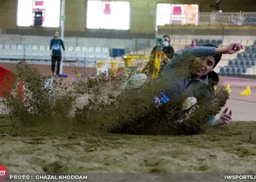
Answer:
[[[207,75],[213,70],[215,60],[213,56],[197,57],[191,66],[191,73],[193,76]]]

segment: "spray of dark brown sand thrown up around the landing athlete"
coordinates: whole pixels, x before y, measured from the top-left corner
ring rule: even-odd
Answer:
[[[188,61],[189,59],[189,61]],[[179,70],[171,81],[188,73],[192,57],[183,57]],[[25,86],[24,100],[17,100],[15,94],[5,101],[10,115],[24,125],[46,122],[77,127],[85,125],[90,130],[129,134],[199,134],[204,132],[205,122],[211,114],[217,114],[225,105],[228,93],[219,85],[213,94],[213,102],[199,99],[199,109],[179,123],[182,114],[181,102],[171,100],[156,109],[153,101],[166,80],[147,83],[141,89],[120,90],[123,80],[119,77],[85,77],[77,80],[63,80],[40,75],[25,63],[15,68],[16,79],[22,79]],[[169,80],[170,81],[170,80]],[[14,85],[15,90],[16,85]],[[49,126],[48,126],[49,127]]]

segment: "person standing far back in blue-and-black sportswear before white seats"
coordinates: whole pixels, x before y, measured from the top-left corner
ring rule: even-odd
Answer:
[[[65,57],[65,47],[63,44],[63,41],[59,38],[60,32],[55,31],[54,38],[50,42],[50,55],[52,57],[52,76],[55,76],[55,64],[57,61],[57,70],[56,70],[56,76],[59,76],[60,73],[60,61],[61,61],[61,50],[60,47],[63,48],[63,54]]]

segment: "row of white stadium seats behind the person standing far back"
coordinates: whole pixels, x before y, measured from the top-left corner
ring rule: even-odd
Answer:
[[[108,47],[81,47],[68,46],[65,51],[65,60],[84,61],[109,60]],[[51,60],[49,46],[0,44],[0,59],[8,60]]]

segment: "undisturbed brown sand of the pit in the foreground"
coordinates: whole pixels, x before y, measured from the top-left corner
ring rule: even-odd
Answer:
[[[255,173],[255,129],[233,122],[199,135],[127,135],[1,115],[0,162],[10,173]]]

